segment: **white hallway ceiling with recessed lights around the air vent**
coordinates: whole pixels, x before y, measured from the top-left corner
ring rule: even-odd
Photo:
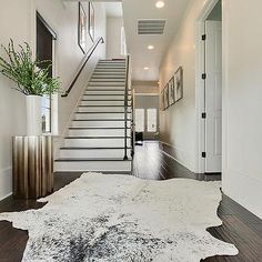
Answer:
[[[155,8],[157,0],[123,0],[123,20],[128,52],[132,59],[132,79],[158,81],[159,67],[164,52],[175,34],[190,0],[163,0],[162,9]],[[162,36],[138,36],[139,19],[165,19]],[[154,50],[148,50],[153,44]],[[148,67],[149,70],[143,70]]]

